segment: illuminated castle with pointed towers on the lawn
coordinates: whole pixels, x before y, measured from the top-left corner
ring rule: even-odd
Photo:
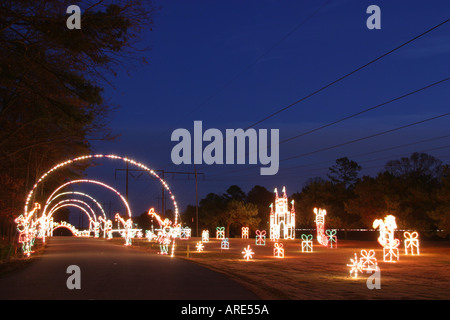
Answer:
[[[270,239],[280,238],[295,239],[294,200],[291,201],[289,210],[285,187],[283,187],[282,197],[278,197],[278,191],[275,188],[275,209],[273,204],[270,205]]]

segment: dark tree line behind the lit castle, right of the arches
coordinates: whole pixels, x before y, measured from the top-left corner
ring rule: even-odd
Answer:
[[[397,217],[399,229],[446,237],[450,233],[450,167],[426,154],[388,161],[375,176],[361,176],[361,166],[347,157],[328,169],[326,178],[309,179],[294,200],[297,228],[315,228],[313,209],[326,209],[330,228],[372,228],[377,218]],[[230,186],[223,194],[209,193],[198,207],[199,230],[226,227],[239,236],[242,226],[269,230],[269,205],[275,195],[256,185],[248,193]],[[188,205],[183,223],[196,228],[196,207]],[[437,231],[440,230],[440,231]]]

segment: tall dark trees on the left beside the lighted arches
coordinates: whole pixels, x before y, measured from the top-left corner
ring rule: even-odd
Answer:
[[[90,154],[94,140],[116,137],[108,128],[115,106],[104,98],[104,87],[119,70],[142,61],[137,41],[153,25],[150,1],[77,5],[83,26],[69,30],[64,1],[0,1],[0,240],[11,241],[14,218],[43,173]],[[58,170],[32,201],[86,167]]]

